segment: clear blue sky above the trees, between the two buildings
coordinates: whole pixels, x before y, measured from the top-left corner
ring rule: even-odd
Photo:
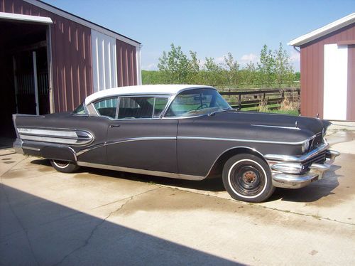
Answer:
[[[355,0],[45,0],[72,14],[142,43],[144,70],[157,70],[170,44],[197,57],[224,62],[231,53],[241,67],[258,61],[261,48],[283,43],[296,71],[300,55],[288,42],[355,12]]]

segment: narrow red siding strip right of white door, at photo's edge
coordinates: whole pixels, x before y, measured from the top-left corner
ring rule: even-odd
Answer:
[[[355,121],[355,45],[348,46],[348,98],[346,119]]]

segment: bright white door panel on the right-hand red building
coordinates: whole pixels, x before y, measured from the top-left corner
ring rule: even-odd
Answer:
[[[348,48],[324,45],[324,119],[346,120]]]

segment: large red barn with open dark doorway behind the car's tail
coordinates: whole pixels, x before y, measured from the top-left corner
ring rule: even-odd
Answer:
[[[1,131],[11,114],[73,110],[87,95],[141,84],[141,43],[37,0],[0,0]]]

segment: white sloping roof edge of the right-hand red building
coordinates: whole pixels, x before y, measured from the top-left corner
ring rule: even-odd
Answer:
[[[329,33],[339,30],[339,28],[344,28],[352,23],[355,23],[355,13],[352,13],[348,16],[344,16],[344,18],[340,18],[337,21],[327,24],[322,28],[317,28],[315,31],[311,31],[305,35],[302,35],[298,38],[293,39],[288,43],[289,46],[302,46],[305,43],[309,43],[310,41],[314,41],[317,38],[325,36]]]

